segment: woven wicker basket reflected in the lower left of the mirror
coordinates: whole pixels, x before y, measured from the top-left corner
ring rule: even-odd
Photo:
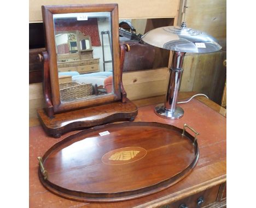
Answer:
[[[68,102],[80,100],[92,95],[92,84],[80,84],[78,82],[66,82],[60,84],[61,101]]]

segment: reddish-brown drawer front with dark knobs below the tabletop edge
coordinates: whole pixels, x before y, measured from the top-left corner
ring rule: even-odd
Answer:
[[[172,204],[162,206],[162,208],[180,208],[182,204],[185,205],[184,207],[187,206],[188,208],[197,208],[197,200],[200,197],[203,197],[203,203],[199,207],[205,207],[207,205],[216,203],[218,192],[219,186],[214,186],[200,193],[190,195],[189,197],[181,199],[179,201],[175,201]]]

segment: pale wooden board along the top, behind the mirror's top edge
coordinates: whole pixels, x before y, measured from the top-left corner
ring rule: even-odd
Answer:
[[[42,21],[42,5],[118,3],[119,18],[176,17],[179,0],[30,0],[30,22]]]

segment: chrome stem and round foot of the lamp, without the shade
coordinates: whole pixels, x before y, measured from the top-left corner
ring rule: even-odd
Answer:
[[[172,66],[169,69],[168,85],[164,106],[162,104],[155,107],[155,113],[165,119],[179,119],[183,117],[184,111],[181,107],[176,107],[179,85],[182,77],[182,63],[185,52],[173,51]]]

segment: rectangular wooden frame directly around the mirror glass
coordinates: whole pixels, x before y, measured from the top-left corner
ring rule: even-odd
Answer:
[[[59,77],[57,70],[57,56],[54,33],[54,14],[109,12],[112,29],[112,60],[113,60],[113,93],[94,96],[84,100],[61,102]],[[119,57],[119,25],[118,4],[83,4],[83,5],[43,5],[43,22],[46,37],[46,51],[48,51],[51,102],[53,111],[61,113],[83,107],[96,106],[104,103],[121,100],[121,71]]]

